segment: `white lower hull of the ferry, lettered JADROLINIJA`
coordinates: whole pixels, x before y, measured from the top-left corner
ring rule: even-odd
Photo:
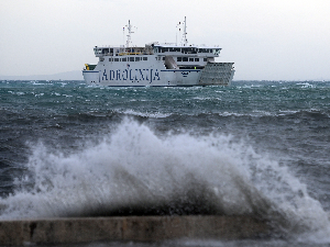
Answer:
[[[233,75],[232,63],[212,63],[204,69],[166,69],[158,60],[152,64],[108,63],[94,70],[82,70],[87,85],[112,87],[229,86]]]

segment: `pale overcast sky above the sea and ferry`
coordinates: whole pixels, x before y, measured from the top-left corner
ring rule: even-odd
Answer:
[[[0,0],[0,76],[81,70],[129,20],[133,45],[175,43],[185,16],[235,80],[330,80],[330,0]]]

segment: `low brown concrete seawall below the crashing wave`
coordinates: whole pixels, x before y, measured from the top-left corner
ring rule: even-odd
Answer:
[[[125,216],[0,222],[0,245],[100,240],[239,239],[266,236],[265,221],[250,216]]]

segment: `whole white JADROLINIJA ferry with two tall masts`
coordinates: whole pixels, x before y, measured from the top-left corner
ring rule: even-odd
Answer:
[[[132,25],[125,45],[94,48],[97,65],[85,64],[87,85],[112,87],[185,87],[229,86],[234,75],[233,63],[216,63],[218,46],[188,45],[186,18],[180,44],[153,42],[145,47],[131,45]]]

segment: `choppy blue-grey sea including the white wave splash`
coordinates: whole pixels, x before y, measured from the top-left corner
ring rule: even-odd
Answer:
[[[77,246],[330,246],[330,81],[0,80],[0,221],[252,215],[277,234]]]

